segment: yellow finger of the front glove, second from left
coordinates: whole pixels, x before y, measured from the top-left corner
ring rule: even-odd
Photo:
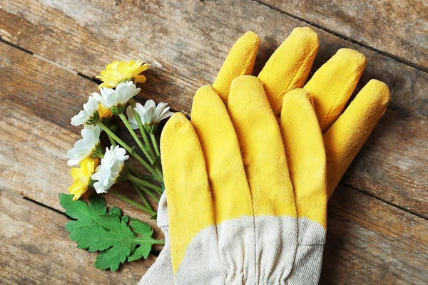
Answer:
[[[192,124],[207,165],[216,224],[253,215],[238,138],[225,104],[207,85],[193,98]]]

